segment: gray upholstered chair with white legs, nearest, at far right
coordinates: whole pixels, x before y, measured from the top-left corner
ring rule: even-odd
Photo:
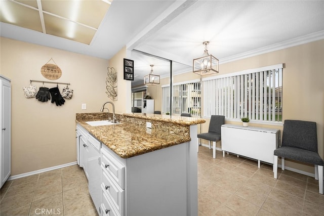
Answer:
[[[285,120],[280,148],[274,150],[273,171],[277,178],[278,157],[281,157],[281,169],[285,170],[285,158],[315,165],[315,179],[319,193],[323,194],[324,162],[317,151],[316,122]]]

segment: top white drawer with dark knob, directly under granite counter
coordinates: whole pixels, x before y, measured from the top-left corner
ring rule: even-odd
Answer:
[[[125,166],[113,158],[104,148],[101,148],[101,166],[121,189],[125,189]]]

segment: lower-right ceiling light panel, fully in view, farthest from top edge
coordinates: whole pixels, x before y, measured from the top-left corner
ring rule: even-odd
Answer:
[[[89,45],[96,30],[75,22],[44,14],[46,33]]]

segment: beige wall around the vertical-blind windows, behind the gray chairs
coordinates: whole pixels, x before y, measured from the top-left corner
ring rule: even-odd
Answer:
[[[237,60],[219,67],[219,75],[242,71],[246,69],[259,68],[268,65],[284,63],[283,70],[283,120],[299,119],[315,121],[317,123],[318,152],[324,158],[324,40],[310,42],[308,44],[283,49],[267,54],[262,54],[242,60]],[[190,79],[196,79],[191,71],[174,76],[174,83]],[[169,79],[168,79],[169,80]],[[166,83],[163,83],[166,82]],[[161,83],[167,84],[166,79]],[[159,87],[160,88],[160,87]],[[149,90],[154,92],[155,90]],[[155,102],[157,104],[157,102]],[[159,105],[160,106],[160,105]],[[240,124],[240,122],[226,122]],[[271,127],[282,130],[282,126],[254,124],[251,126]],[[209,119],[201,125],[201,131],[207,132]],[[199,127],[198,127],[199,128]],[[282,131],[281,131],[282,132]],[[198,132],[199,133],[199,132]],[[206,142],[207,143],[207,142]],[[221,147],[221,142],[217,143]],[[313,166],[292,161],[286,162],[287,166],[314,172]]]

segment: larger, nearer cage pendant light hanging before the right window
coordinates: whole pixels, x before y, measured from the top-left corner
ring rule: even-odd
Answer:
[[[201,76],[218,73],[218,59],[213,55],[209,55],[207,45],[209,41],[204,41],[205,51],[203,57],[193,60],[193,72]]]

